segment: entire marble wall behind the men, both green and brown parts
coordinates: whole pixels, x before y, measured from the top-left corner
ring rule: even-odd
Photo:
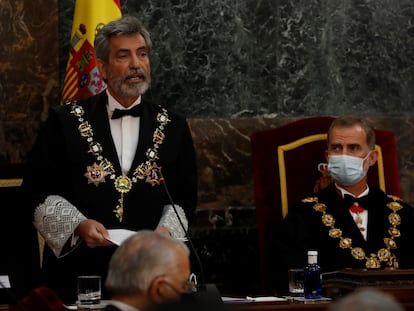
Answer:
[[[74,3],[0,0],[1,164],[25,161],[59,103]],[[198,228],[254,228],[251,133],[313,115],[358,114],[393,130],[403,198],[414,203],[412,0],[121,5],[153,36],[150,94],[189,117],[205,218]],[[233,217],[241,211],[250,216]]]

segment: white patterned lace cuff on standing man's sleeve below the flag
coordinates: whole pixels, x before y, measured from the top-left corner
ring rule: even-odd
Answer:
[[[33,224],[59,257],[66,242],[72,237],[79,223],[87,219],[65,198],[50,195],[36,207]]]

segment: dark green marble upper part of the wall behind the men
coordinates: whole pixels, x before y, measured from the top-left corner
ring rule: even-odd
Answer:
[[[153,35],[152,94],[189,117],[414,112],[411,0],[121,3]]]

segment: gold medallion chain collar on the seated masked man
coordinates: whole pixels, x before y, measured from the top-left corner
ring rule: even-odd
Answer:
[[[401,217],[397,214],[397,211],[402,209],[402,205],[397,202],[400,198],[391,195],[388,195],[388,197],[393,199],[393,202],[387,203],[387,207],[391,210],[388,216],[388,221],[391,224],[391,227],[388,229],[390,236],[384,238],[385,247],[379,249],[376,254],[371,253],[369,257],[361,247],[352,247],[352,239],[343,237],[342,230],[334,227],[335,218],[326,212],[328,207],[324,203],[319,203],[317,197],[309,197],[302,200],[302,202],[314,203],[313,209],[322,213],[322,223],[330,228],[329,236],[334,239],[339,239],[339,246],[342,249],[348,248],[355,259],[365,260],[365,266],[368,269],[381,268],[382,262],[386,262],[389,267],[395,268],[398,266],[398,262],[391,250],[397,249],[397,243],[394,241],[394,238],[401,236],[400,230],[397,229],[397,226],[401,224]]]

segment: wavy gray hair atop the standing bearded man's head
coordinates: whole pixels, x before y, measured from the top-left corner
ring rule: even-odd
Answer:
[[[152,41],[149,31],[134,16],[123,16],[117,20],[106,24],[95,37],[94,48],[96,58],[108,63],[109,60],[109,41],[113,36],[132,36],[140,34],[148,48],[148,52],[152,48]]]

